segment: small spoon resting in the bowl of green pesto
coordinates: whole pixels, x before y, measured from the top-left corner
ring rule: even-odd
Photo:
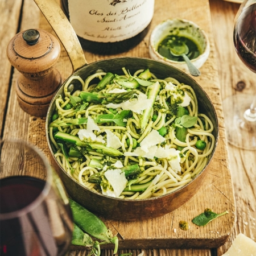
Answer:
[[[180,44],[179,46],[174,46],[170,48],[170,52],[174,56],[182,56],[186,61],[188,70],[192,76],[200,76],[201,72],[193,65],[193,63],[189,60],[187,54],[189,52],[187,44]]]

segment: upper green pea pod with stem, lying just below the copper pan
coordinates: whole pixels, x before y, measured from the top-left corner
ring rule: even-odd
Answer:
[[[90,236],[101,240],[100,244],[114,243],[114,254],[117,253],[118,238],[112,235],[104,222],[72,199],[69,199],[69,205],[73,214],[73,222]]]

